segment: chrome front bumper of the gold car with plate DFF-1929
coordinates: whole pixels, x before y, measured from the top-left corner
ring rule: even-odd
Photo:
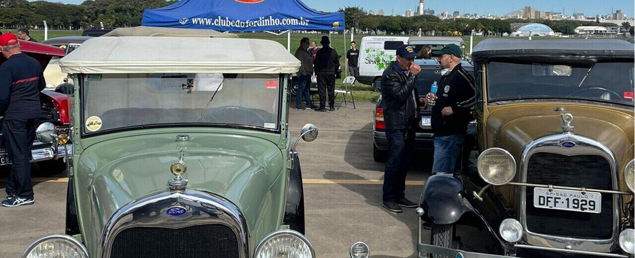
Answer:
[[[559,248],[549,248],[549,247],[534,247],[531,245],[514,245],[516,248],[528,248],[528,249],[536,249],[536,250],[544,250],[550,252],[564,252],[569,254],[585,254],[585,255],[597,255],[603,257],[616,257],[616,258],[629,258],[629,255],[623,254],[606,254],[606,253],[598,253],[598,252],[585,252],[578,250],[570,250],[570,249],[559,249]],[[446,255],[447,257],[464,257],[464,258],[509,258],[506,255],[495,255],[495,254],[481,254],[475,252],[467,252],[464,250],[456,250],[452,248],[445,247],[437,247],[436,245],[427,245],[424,243],[419,243],[417,245],[418,257],[424,258],[427,257],[427,254],[439,254]],[[458,255],[461,254],[461,255]]]

